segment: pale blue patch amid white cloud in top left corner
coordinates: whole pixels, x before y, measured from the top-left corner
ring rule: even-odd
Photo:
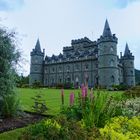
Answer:
[[[24,0],[0,0],[0,11],[11,11],[23,6]]]

